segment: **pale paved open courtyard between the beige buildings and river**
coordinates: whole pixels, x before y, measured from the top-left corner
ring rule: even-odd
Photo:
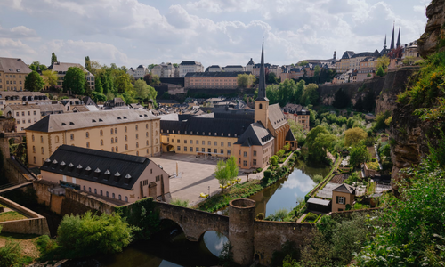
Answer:
[[[190,206],[196,205],[204,200],[199,198],[200,193],[209,193],[210,195],[218,193],[220,184],[214,178],[214,168],[217,159],[196,158],[195,155],[163,153],[161,157],[150,158],[156,164],[162,166],[167,174],[173,175],[170,178],[170,194],[172,199],[189,200]],[[176,174],[176,165],[178,166],[178,174]],[[242,182],[246,182],[247,176],[243,174],[243,170],[239,170],[239,178]],[[259,179],[263,174],[250,174],[250,179]]]

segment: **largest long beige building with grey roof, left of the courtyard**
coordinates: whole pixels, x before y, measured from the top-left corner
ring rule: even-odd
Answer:
[[[25,131],[31,167],[42,166],[62,144],[143,157],[161,151],[159,118],[140,109],[53,114]]]

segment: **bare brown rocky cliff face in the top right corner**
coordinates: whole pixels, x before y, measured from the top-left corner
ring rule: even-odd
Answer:
[[[426,8],[426,17],[425,33],[417,40],[417,49],[423,58],[435,52],[445,39],[445,0],[433,0]]]

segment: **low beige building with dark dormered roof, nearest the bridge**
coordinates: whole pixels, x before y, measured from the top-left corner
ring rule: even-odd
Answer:
[[[169,175],[150,158],[61,145],[40,171],[45,181],[117,203],[171,199]]]

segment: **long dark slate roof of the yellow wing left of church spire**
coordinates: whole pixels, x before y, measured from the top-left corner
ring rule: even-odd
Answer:
[[[214,117],[190,117],[186,121],[161,120],[160,127],[162,134],[188,134],[235,137],[243,134],[248,125],[252,123],[247,119],[229,119]],[[167,133],[168,131],[168,133]],[[179,131],[179,132],[178,132]],[[214,135],[216,133],[216,135]]]

